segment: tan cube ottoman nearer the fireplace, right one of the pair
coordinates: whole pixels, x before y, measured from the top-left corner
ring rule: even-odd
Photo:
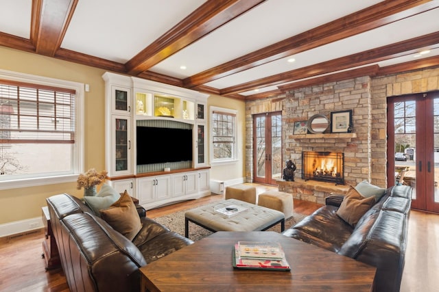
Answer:
[[[293,196],[283,191],[265,191],[259,195],[258,205],[281,211],[285,215],[285,219],[287,219],[292,216]]]

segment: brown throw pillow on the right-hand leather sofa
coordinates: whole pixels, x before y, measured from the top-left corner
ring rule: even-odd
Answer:
[[[337,210],[342,220],[355,227],[359,219],[375,204],[375,197],[364,198],[359,192],[351,187],[348,194],[344,196],[340,208]]]

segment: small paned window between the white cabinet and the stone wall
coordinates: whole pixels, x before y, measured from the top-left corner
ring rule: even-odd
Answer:
[[[213,163],[236,159],[236,112],[211,107],[211,161]]]

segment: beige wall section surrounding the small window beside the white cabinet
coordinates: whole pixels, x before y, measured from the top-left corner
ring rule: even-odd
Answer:
[[[209,98],[207,99],[207,110],[209,112],[211,106],[224,107],[226,109],[236,109],[238,111],[237,113],[238,161],[235,163],[224,164],[224,165],[213,165],[211,168],[211,179],[227,182],[227,181],[234,181],[242,178],[242,180],[244,181],[245,180],[244,163],[246,157],[246,141],[245,141],[246,103],[244,103],[244,101],[238,101],[233,98],[226,98],[223,96],[212,95],[209,96]],[[210,129],[210,126],[208,128]]]

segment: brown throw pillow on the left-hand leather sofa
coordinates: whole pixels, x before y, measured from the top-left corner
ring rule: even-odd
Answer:
[[[127,191],[110,208],[101,210],[101,217],[126,238],[134,239],[142,228],[136,205]]]

